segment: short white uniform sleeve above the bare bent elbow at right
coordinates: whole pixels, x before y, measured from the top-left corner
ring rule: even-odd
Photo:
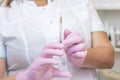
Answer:
[[[88,0],[88,10],[89,10],[89,14],[90,14],[90,21],[91,21],[91,26],[92,26],[92,32],[96,32],[96,31],[104,31],[105,27],[93,5],[92,0]]]

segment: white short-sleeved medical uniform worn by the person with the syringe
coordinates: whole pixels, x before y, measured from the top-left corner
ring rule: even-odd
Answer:
[[[7,59],[8,76],[24,71],[46,43],[59,41],[60,16],[63,31],[79,32],[91,47],[91,33],[105,31],[89,0],[54,0],[37,7],[33,1],[12,2],[0,7],[0,57]],[[65,58],[65,64],[68,62]],[[78,68],[68,63],[71,80],[97,80],[95,69]],[[58,79],[55,79],[58,80]],[[63,80],[63,79],[61,79]]]

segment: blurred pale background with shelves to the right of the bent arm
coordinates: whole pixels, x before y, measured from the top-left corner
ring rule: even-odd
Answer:
[[[93,0],[115,48],[112,69],[98,70],[99,80],[120,80],[120,0]]]

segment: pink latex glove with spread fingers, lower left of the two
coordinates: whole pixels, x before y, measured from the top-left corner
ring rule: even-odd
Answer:
[[[53,77],[71,78],[68,71],[62,71],[53,67],[58,65],[59,61],[54,60],[53,56],[62,56],[61,49],[63,44],[51,43],[45,45],[30,67],[22,73],[17,74],[16,80],[50,80]]]

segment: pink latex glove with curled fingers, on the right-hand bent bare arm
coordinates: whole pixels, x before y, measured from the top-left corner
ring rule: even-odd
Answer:
[[[82,36],[66,29],[62,43],[66,46],[65,52],[69,62],[74,66],[81,66],[87,55],[87,47]]]

